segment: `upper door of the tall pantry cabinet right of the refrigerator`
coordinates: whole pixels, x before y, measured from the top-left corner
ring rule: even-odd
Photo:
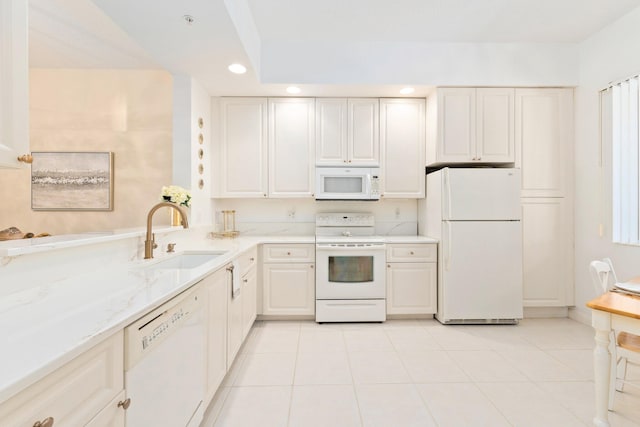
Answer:
[[[571,174],[572,89],[516,89],[516,166],[522,197],[563,197]]]

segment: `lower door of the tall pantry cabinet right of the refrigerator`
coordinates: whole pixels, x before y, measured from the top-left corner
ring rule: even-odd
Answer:
[[[522,199],[523,295],[526,307],[573,302],[572,228],[564,198]]]

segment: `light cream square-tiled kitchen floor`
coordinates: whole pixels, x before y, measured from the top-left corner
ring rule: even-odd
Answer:
[[[591,426],[593,347],[570,319],[256,322],[203,427]],[[609,414],[640,427],[640,389]]]

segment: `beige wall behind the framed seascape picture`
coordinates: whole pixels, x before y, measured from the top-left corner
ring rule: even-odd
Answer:
[[[110,212],[31,210],[30,169],[0,169],[0,230],[69,234],[140,227],[172,179],[172,78],[153,70],[31,69],[31,151],[112,151]],[[167,223],[169,214],[156,215]]]

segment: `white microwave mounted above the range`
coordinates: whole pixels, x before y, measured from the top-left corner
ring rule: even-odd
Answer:
[[[316,200],[379,200],[380,168],[316,166]]]

